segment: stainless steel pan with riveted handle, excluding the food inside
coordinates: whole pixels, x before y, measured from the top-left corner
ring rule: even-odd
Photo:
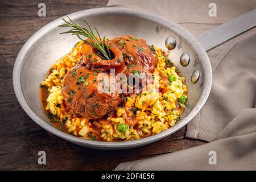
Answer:
[[[69,14],[69,17],[73,20],[85,19],[109,38],[131,34],[146,39],[148,44],[165,49],[167,43],[167,47],[174,47],[170,53],[171,60],[187,78],[187,109],[174,127],[151,137],[127,142],[99,142],[73,137],[55,129],[49,123],[40,106],[39,84],[54,61],[69,52],[78,40],[76,36],[59,34],[64,31],[63,28],[57,27],[63,23],[61,18],[47,24],[31,36],[20,50],[13,72],[15,94],[24,111],[38,125],[60,138],[81,146],[109,150],[143,146],[187,125],[203,107],[210,93],[212,68],[206,51],[253,28],[256,24],[256,10],[253,10],[194,37],[169,19],[138,10],[108,7],[79,11]]]

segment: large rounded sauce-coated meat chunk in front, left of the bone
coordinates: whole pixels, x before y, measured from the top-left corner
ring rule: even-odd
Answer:
[[[98,90],[102,81],[100,73],[98,69],[90,70],[88,65],[79,64],[64,77],[63,97],[69,107],[84,118],[100,119],[115,110],[120,102],[115,90]]]

